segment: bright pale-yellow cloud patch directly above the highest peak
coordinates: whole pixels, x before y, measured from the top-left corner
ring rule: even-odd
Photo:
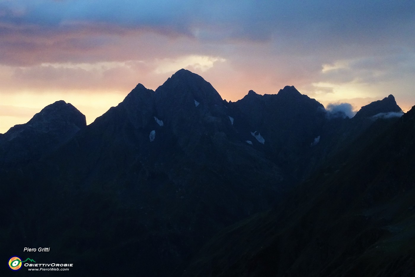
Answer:
[[[168,72],[176,72],[179,69],[186,67],[193,67],[200,69],[202,72],[207,71],[213,67],[215,62],[225,62],[226,60],[220,57],[190,55],[178,59],[161,59],[157,60],[157,67],[154,70],[157,74]]]

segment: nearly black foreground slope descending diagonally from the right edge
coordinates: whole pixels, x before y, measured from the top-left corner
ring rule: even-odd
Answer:
[[[371,131],[277,210],[210,240],[183,276],[412,276],[415,107]]]

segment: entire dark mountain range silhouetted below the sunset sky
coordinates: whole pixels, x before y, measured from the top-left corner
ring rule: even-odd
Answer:
[[[57,101],[0,135],[2,245],[51,247],[77,276],[393,276],[413,256],[372,248],[413,240],[402,115],[389,95],[350,119],[290,86],[225,101],[185,69],[88,126]]]

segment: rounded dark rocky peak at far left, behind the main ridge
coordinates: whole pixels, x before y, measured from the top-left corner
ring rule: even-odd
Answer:
[[[85,116],[71,104],[56,101],[26,124],[10,128],[0,137],[0,166],[23,166],[63,143],[86,126]]]

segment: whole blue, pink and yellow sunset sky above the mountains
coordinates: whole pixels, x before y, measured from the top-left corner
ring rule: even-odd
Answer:
[[[178,69],[223,99],[286,85],[415,105],[413,0],[0,0],[0,133],[64,100],[94,121]]]

